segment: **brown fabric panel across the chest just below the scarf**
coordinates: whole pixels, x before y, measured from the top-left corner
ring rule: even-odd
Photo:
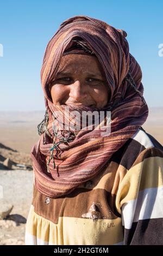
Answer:
[[[111,207],[108,205],[109,203]],[[90,212],[91,205],[96,204],[96,210],[92,211],[93,215],[98,216],[98,219],[114,220],[117,216],[112,212],[114,208],[114,195],[102,189],[87,190],[86,188],[77,188],[65,198],[52,199],[49,204],[45,203],[47,197],[39,191],[34,191],[34,211],[36,214],[46,218],[53,223],[58,223],[59,217],[74,217],[82,218],[82,215]]]

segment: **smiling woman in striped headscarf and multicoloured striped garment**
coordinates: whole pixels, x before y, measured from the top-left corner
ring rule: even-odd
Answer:
[[[126,36],[75,16],[47,45],[41,69],[46,114],[32,149],[27,245],[163,242],[163,148],[141,127],[148,107]],[[103,113],[99,123],[95,112]]]

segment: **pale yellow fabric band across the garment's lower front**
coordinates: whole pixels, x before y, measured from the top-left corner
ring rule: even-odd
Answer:
[[[55,224],[37,215],[33,205],[27,218],[26,231],[54,245],[113,245],[123,241],[121,218],[92,220],[59,217],[58,224]]]

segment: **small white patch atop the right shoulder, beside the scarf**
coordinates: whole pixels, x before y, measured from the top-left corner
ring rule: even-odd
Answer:
[[[154,147],[154,145],[153,145],[151,139],[148,137],[148,135],[140,129],[138,129],[131,138],[135,139],[135,141],[142,144],[146,149],[150,148],[150,147]]]

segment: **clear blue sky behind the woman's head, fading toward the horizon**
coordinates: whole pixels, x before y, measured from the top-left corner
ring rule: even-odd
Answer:
[[[142,69],[148,106],[163,107],[162,9],[162,0],[1,1],[0,111],[45,109],[40,83],[43,54],[60,23],[75,15],[95,17],[127,32],[130,53]]]

